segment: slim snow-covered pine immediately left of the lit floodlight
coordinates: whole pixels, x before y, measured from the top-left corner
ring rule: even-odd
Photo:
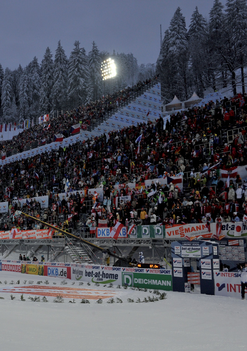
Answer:
[[[93,100],[98,100],[102,97],[102,77],[101,77],[101,57],[95,42],[92,42],[92,50],[88,54],[88,65],[90,74],[90,85],[92,88]]]

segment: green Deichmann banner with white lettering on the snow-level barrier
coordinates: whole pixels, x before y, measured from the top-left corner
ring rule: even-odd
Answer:
[[[161,271],[163,274],[122,272],[123,285],[172,291],[171,271]]]

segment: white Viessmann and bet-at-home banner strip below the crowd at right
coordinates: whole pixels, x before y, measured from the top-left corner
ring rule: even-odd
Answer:
[[[193,236],[203,238],[212,238],[217,234],[216,223],[210,223],[210,230],[205,223],[195,224],[173,224],[165,226],[165,237],[170,239],[191,238]],[[226,238],[239,238],[247,236],[246,222],[228,222],[222,223],[220,234]]]

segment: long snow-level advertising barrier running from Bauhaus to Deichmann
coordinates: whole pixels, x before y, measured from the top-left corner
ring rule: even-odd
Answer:
[[[66,278],[80,282],[128,285],[172,291],[171,270],[81,265],[75,263],[0,260],[1,272]]]

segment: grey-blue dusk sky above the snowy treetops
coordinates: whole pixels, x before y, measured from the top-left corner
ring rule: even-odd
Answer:
[[[186,26],[195,6],[205,17],[214,0],[1,0],[0,63],[3,68],[25,67],[34,56],[41,62],[49,46],[61,40],[69,57],[75,40],[87,53],[94,40],[100,51],[129,53],[138,64],[154,63],[162,35],[178,6]],[[221,1],[225,5],[226,0]]]

